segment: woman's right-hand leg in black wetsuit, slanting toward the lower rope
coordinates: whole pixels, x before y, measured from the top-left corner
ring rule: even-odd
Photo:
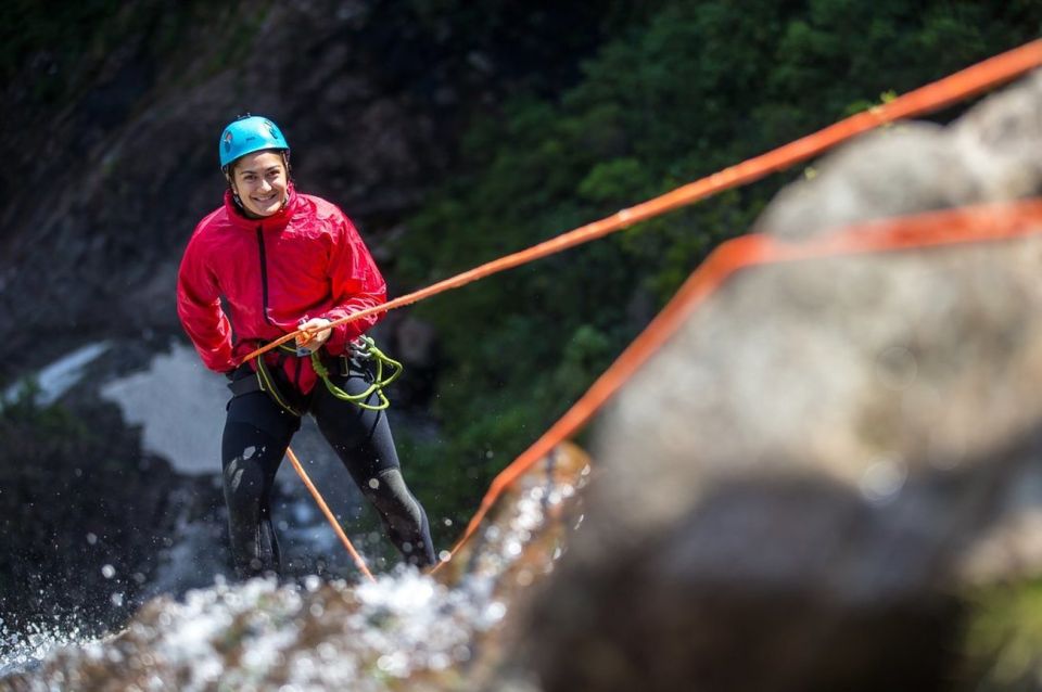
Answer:
[[[352,395],[369,386],[361,371],[354,368],[348,376],[333,376],[333,382]],[[376,399],[376,395],[369,397],[369,405]],[[316,385],[312,413],[361,494],[380,513],[387,537],[406,562],[418,567],[433,564],[434,544],[427,513],[402,476],[385,413],[336,399],[322,382]]]

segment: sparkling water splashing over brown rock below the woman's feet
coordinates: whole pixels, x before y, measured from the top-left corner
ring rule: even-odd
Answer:
[[[218,578],[182,601],[150,601],[104,640],[45,636],[21,664],[4,662],[16,672],[0,690],[463,689],[496,675],[518,591],[551,571],[587,471],[583,456],[523,476],[436,576],[399,566],[360,585]]]

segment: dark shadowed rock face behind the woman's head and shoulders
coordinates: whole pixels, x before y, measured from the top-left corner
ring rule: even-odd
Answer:
[[[468,115],[519,82],[567,80],[597,43],[534,38],[597,26],[596,8],[424,13],[147,1],[34,46],[0,87],[0,381],[100,335],[181,336],[177,266],[220,204],[217,139],[237,115],[279,121],[298,187],[340,204],[380,254],[442,179]],[[381,266],[393,277],[393,258]]]

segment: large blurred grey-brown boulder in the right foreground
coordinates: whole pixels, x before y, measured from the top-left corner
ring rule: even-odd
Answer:
[[[1037,195],[1040,162],[1035,75],[834,153],[754,230]],[[951,689],[954,594],[1009,575],[974,555],[1040,501],[1015,499],[1042,456],[1040,258],[1030,236],[727,282],[598,425],[525,639],[546,692]]]

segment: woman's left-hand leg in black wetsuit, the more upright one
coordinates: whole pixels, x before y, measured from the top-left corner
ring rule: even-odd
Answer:
[[[282,411],[264,392],[237,396],[228,402],[221,463],[231,555],[241,579],[279,574],[271,490],[282,456],[300,424],[298,418]]]

